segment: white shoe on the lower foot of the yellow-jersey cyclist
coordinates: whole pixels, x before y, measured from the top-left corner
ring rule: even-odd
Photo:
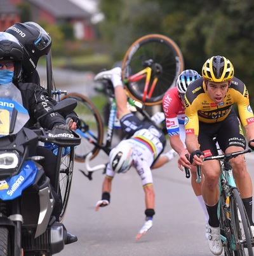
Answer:
[[[220,227],[211,227],[208,224],[206,229],[208,246],[214,255],[222,254],[222,240],[220,239]]]

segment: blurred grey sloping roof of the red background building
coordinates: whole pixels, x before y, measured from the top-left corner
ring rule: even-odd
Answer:
[[[1,0],[2,1],[2,0]],[[87,18],[88,11],[79,8],[69,0],[26,0],[27,2],[46,10],[56,18]]]

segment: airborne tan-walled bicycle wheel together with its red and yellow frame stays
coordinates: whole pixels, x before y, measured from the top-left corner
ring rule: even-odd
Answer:
[[[177,44],[170,38],[150,34],[130,46],[122,69],[130,96],[153,105],[161,103],[164,93],[175,86],[178,75],[184,69],[184,59]],[[144,72],[147,77],[144,77]]]

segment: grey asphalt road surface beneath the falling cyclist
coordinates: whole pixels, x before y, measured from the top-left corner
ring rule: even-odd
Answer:
[[[92,165],[106,162],[101,153]],[[247,157],[251,170],[251,158]],[[139,241],[135,236],[144,224],[144,192],[135,169],[114,178],[111,203],[95,211],[101,197],[104,175],[93,173],[88,180],[75,163],[74,179],[67,215],[64,219],[69,232],[78,241],[66,245],[57,255],[86,256],[208,256],[205,220],[201,206],[192,191],[190,179],[178,170],[177,159],[153,171],[156,192],[156,215],[153,226]],[[250,171],[251,173],[251,171]],[[253,173],[251,173],[254,178]],[[254,179],[253,179],[254,180]]]

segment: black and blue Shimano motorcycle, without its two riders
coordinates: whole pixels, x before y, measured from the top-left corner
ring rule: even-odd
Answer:
[[[76,100],[61,101],[45,115],[72,111],[76,104]],[[63,138],[53,130],[28,129],[24,127],[28,120],[17,87],[1,85],[0,256],[53,255],[64,249],[67,239],[64,224],[51,215],[55,199],[50,179],[39,164],[43,157],[34,152],[38,141],[74,146],[80,138],[74,131]]]

